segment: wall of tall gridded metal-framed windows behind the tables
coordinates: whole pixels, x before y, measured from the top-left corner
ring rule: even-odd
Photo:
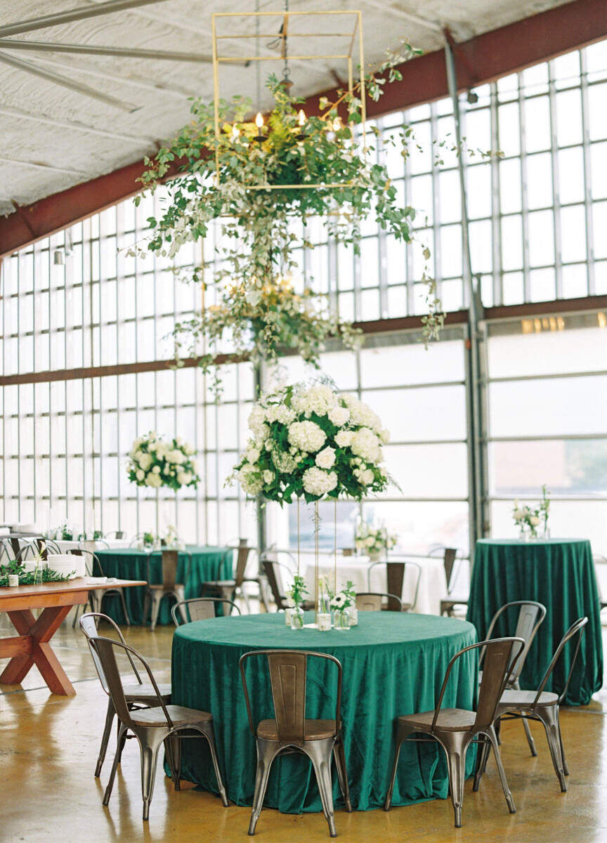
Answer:
[[[491,161],[467,155],[465,161],[472,271],[481,279],[483,304],[531,304],[607,293],[607,239],[603,234],[607,180],[602,166],[607,153],[607,41],[481,86],[476,93],[479,99],[475,104],[462,102],[463,133],[470,146],[503,153],[502,158]],[[449,139],[454,137],[452,103],[443,99],[376,121],[383,140],[403,125],[412,127],[422,149],[414,147],[405,159],[398,148],[380,141],[385,149],[377,154],[388,165],[402,200],[419,209],[416,234],[432,250],[429,269],[438,279],[445,309],[458,310],[468,302],[462,282],[457,160]],[[432,142],[436,142],[434,147]],[[442,159],[438,166],[432,163],[434,153]],[[41,526],[46,526],[46,518],[54,522],[67,518],[87,529],[121,526],[135,532],[161,529],[179,518],[180,531],[191,539],[214,542],[236,534],[255,535],[252,507],[245,509],[238,488],[223,488],[223,478],[246,438],[246,416],[253,399],[250,365],[225,367],[221,403],[214,400],[201,373],[193,368],[112,371],[125,363],[168,359],[172,344],[164,342],[164,336],[169,335],[176,319],[200,305],[196,289],[175,277],[167,260],[140,260],[126,254],[126,247],[145,235],[146,219],[153,212],[149,199],[137,209],[132,201],[125,201],[3,260],[2,372],[23,375],[19,384],[5,385],[2,390],[4,521],[41,521]],[[371,220],[363,223],[359,258],[328,241],[322,220],[310,223],[308,235],[317,245],[301,261],[303,277],[329,293],[343,317],[371,320],[423,312],[419,244],[398,244]],[[207,259],[214,245],[209,238]],[[200,259],[193,246],[178,255],[184,266]],[[557,307],[552,313],[559,319]],[[567,330],[559,331],[559,338],[570,336],[569,317],[562,318]],[[600,314],[594,318],[600,319]],[[550,331],[550,322],[548,325]],[[597,323],[589,332],[582,326],[575,330],[600,343],[604,334],[597,333],[599,327]],[[338,386],[358,390],[372,400],[389,416],[387,423],[393,427],[398,444],[390,446],[394,448],[390,458],[400,465],[397,473],[404,475],[406,486],[402,496],[395,496],[398,500],[364,504],[376,507],[379,517],[391,519],[392,504],[399,505],[399,512],[408,507],[412,513],[426,504],[438,512],[443,495],[438,486],[430,488],[427,482],[438,478],[440,466],[449,461],[439,455],[456,446],[465,451],[466,445],[470,454],[469,431],[463,443],[459,428],[437,433],[430,441],[417,438],[416,432],[407,428],[411,419],[428,417],[433,423],[437,413],[430,396],[438,395],[440,389],[445,406],[449,405],[449,390],[457,387],[460,394],[464,389],[459,376],[457,383],[444,379],[439,389],[426,374],[441,368],[441,349],[450,342],[465,347],[463,329],[454,330],[460,331],[457,338],[446,333],[429,352],[422,352],[418,337],[400,335],[390,340],[395,345],[390,345],[386,336],[369,338],[358,357],[346,352],[325,355],[323,366]],[[531,428],[519,432],[515,427],[496,427],[499,389],[506,389],[497,379],[509,379],[512,389],[512,384],[528,381],[518,379],[516,373],[511,377],[493,370],[492,349],[497,348],[502,329],[487,330],[488,402],[481,419],[481,427],[488,429],[485,529],[489,529],[490,516],[494,529],[506,529],[500,507],[513,490],[499,485],[497,446],[505,443],[504,438],[526,437],[533,448],[545,441],[542,436],[585,443],[587,450],[594,448],[588,459],[595,459],[602,453],[604,437],[583,426],[544,434]],[[527,347],[531,333],[525,334],[521,328],[517,347]],[[374,351],[373,343],[377,346]],[[418,352],[422,359],[415,365],[423,374],[420,384],[411,386],[408,361]],[[373,366],[367,361],[375,359],[373,354],[387,358],[394,353],[400,355],[402,364],[399,362],[394,372],[388,366],[375,367],[389,382],[373,383]],[[99,377],[94,372],[98,367],[109,369]],[[37,382],[35,377],[49,370],[75,368],[89,373],[51,382]],[[597,403],[591,385],[599,383],[599,376],[584,375],[584,371],[580,364],[577,373],[563,374],[558,368],[550,373],[560,384],[565,404],[567,395],[574,395],[582,383],[590,384],[587,400]],[[524,377],[528,375],[537,375],[538,382],[545,377],[545,373]],[[468,379],[465,372],[465,389],[470,389]],[[395,402],[389,400],[383,411],[379,405],[385,395],[403,396],[403,416],[392,419]],[[508,418],[502,415],[501,423],[511,423]],[[184,493],[178,508],[174,496],[163,492],[157,499],[155,494],[137,492],[126,481],[124,459],[132,438],[153,428],[169,435],[179,432],[203,454],[204,486],[196,495]],[[582,445],[577,447],[581,454]],[[401,463],[415,464],[415,470],[402,471]],[[449,506],[456,502],[467,507],[467,464],[458,474],[459,486],[447,495]],[[533,481],[538,480],[533,475]],[[446,480],[444,487],[449,488]],[[531,486],[523,484],[522,488],[531,493]],[[596,489],[584,492],[580,506],[594,506],[596,494]],[[406,538],[419,547],[424,541],[442,540],[430,535],[440,532],[437,524],[429,524],[427,539],[421,533]]]

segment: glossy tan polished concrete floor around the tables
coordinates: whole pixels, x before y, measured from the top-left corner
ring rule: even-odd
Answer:
[[[11,634],[6,615],[0,636]],[[148,657],[160,681],[170,678],[172,629],[154,634],[126,631],[129,643]],[[53,639],[77,696],[51,695],[33,668],[23,686],[0,686],[0,841],[63,843],[200,843],[247,840],[250,809],[223,808],[219,799],[183,782],[175,793],[158,770],[150,819],[141,819],[139,753],[127,741],[108,808],[101,804],[111,751],[100,779],[93,776],[105,717],[99,687],[83,638],[64,624]],[[435,800],[406,808],[347,814],[336,812],[342,840],[376,843],[508,840],[516,843],[605,843],[607,841],[607,693],[590,706],[566,709],[562,731],[571,776],[561,793],[545,738],[532,725],[539,757],[531,758],[518,723],[502,728],[502,758],[517,813],[509,814],[493,762],[473,793],[466,782],[464,827],[454,829],[450,802]],[[111,750],[110,745],[110,750]],[[265,809],[256,838],[268,843],[329,839],[322,814],[293,816]]]

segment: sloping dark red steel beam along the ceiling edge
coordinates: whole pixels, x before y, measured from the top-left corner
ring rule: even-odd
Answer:
[[[458,44],[454,55],[459,89],[491,82],[605,37],[605,0],[575,0],[551,8]],[[400,70],[402,80],[386,86],[378,102],[368,99],[369,117],[411,108],[449,94],[442,50],[406,62]],[[336,89],[309,97],[305,106],[308,113],[318,110],[318,99],[323,95],[334,97]],[[133,196],[140,190],[137,178],[143,169],[143,162],[137,161],[0,218],[0,258]]]

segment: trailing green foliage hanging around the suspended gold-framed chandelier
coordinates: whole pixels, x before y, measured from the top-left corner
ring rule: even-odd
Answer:
[[[419,52],[405,44],[399,55],[390,55],[365,76],[367,94],[379,99],[386,81],[401,78],[395,64]],[[203,239],[212,220],[226,217],[223,234],[228,245],[220,250],[221,266],[213,277],[213,283],[224,287],[219,302],[214,310],[203,309],[175,328],[176,357],[188,345],[205,371],[212,368],[219,343],[226,339],[233,341],[236,356],[252,351],[275,359],[287,348],[316,367],[329,336],[341,335],[352,346],[351,325],[328,312],[326,299],[325,307],[321,305],[325,297],[307,287],[296,293],[288,280],[297,268],[294,250],[313,248],[293,233],[293,217],[303,225],[311,217],[324,217],[330,238],[351,244],[356,254],[361,221],[367,217],[397,240],[412,239],[414,209],[400,205],[388,170],[372,163],[362,138],[352,131],[352,124],[361,121],[361,83],[352,92],[339,90],[333,100],[320,98],[320,114],[308,117],[298,113],[303,100],[291,96],[282,81],[270,76],[266,86],[274,106],[264,128],[247,120],[250,100],[234,96],[220,100],[217,137],[213,105],[196,99],[192,121],[155,158],[146,158],[148,169],[142,175],[144,188],[156,191],[174,162],[185,159],[180,177],[164,185],[169,199],[162,214],[148,217],[148,251],[172,258],[182,245]],[[340,110],[346,111],[347,124]],[[379,137],[375,127],[372,132]],[[401,130],[399,142],[406,157],[415,143],[408,127]],[[373,152],[372,146],[368,152]],[[141,198],[136,197],[136,204]],[[146,250],[136,247],[132,254],[145,256]],[[429,258],[428,250],[424,256]],[[204,270],[203,264],[186,273],[203,289]],[[429,312],[423,325],[429,340],[438,336],[444,316],[436,284],[425,274],[422,280],[428,285]],[[269,287],[277,288],[275,305],[268,304]],[[203,338],[209,347],[199,343]]]

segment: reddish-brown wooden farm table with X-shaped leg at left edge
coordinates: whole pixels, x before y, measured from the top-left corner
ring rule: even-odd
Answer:
[[[140,580],[114,580],[113,583],[92,585],[88,577],[77,577],[65,583],[0,588],[0,611],[7,612],[19,632],[12,638],[0,638],[0,658],[10,658],[0,674],[0,684],[19,685],[35,665],[53,694],[74,696],[76,691],[49,644],[52,636],[73,606],[87,602],[91,588],[136,585],[145,583]],[[31,609],[42,609],[37,619]]]

